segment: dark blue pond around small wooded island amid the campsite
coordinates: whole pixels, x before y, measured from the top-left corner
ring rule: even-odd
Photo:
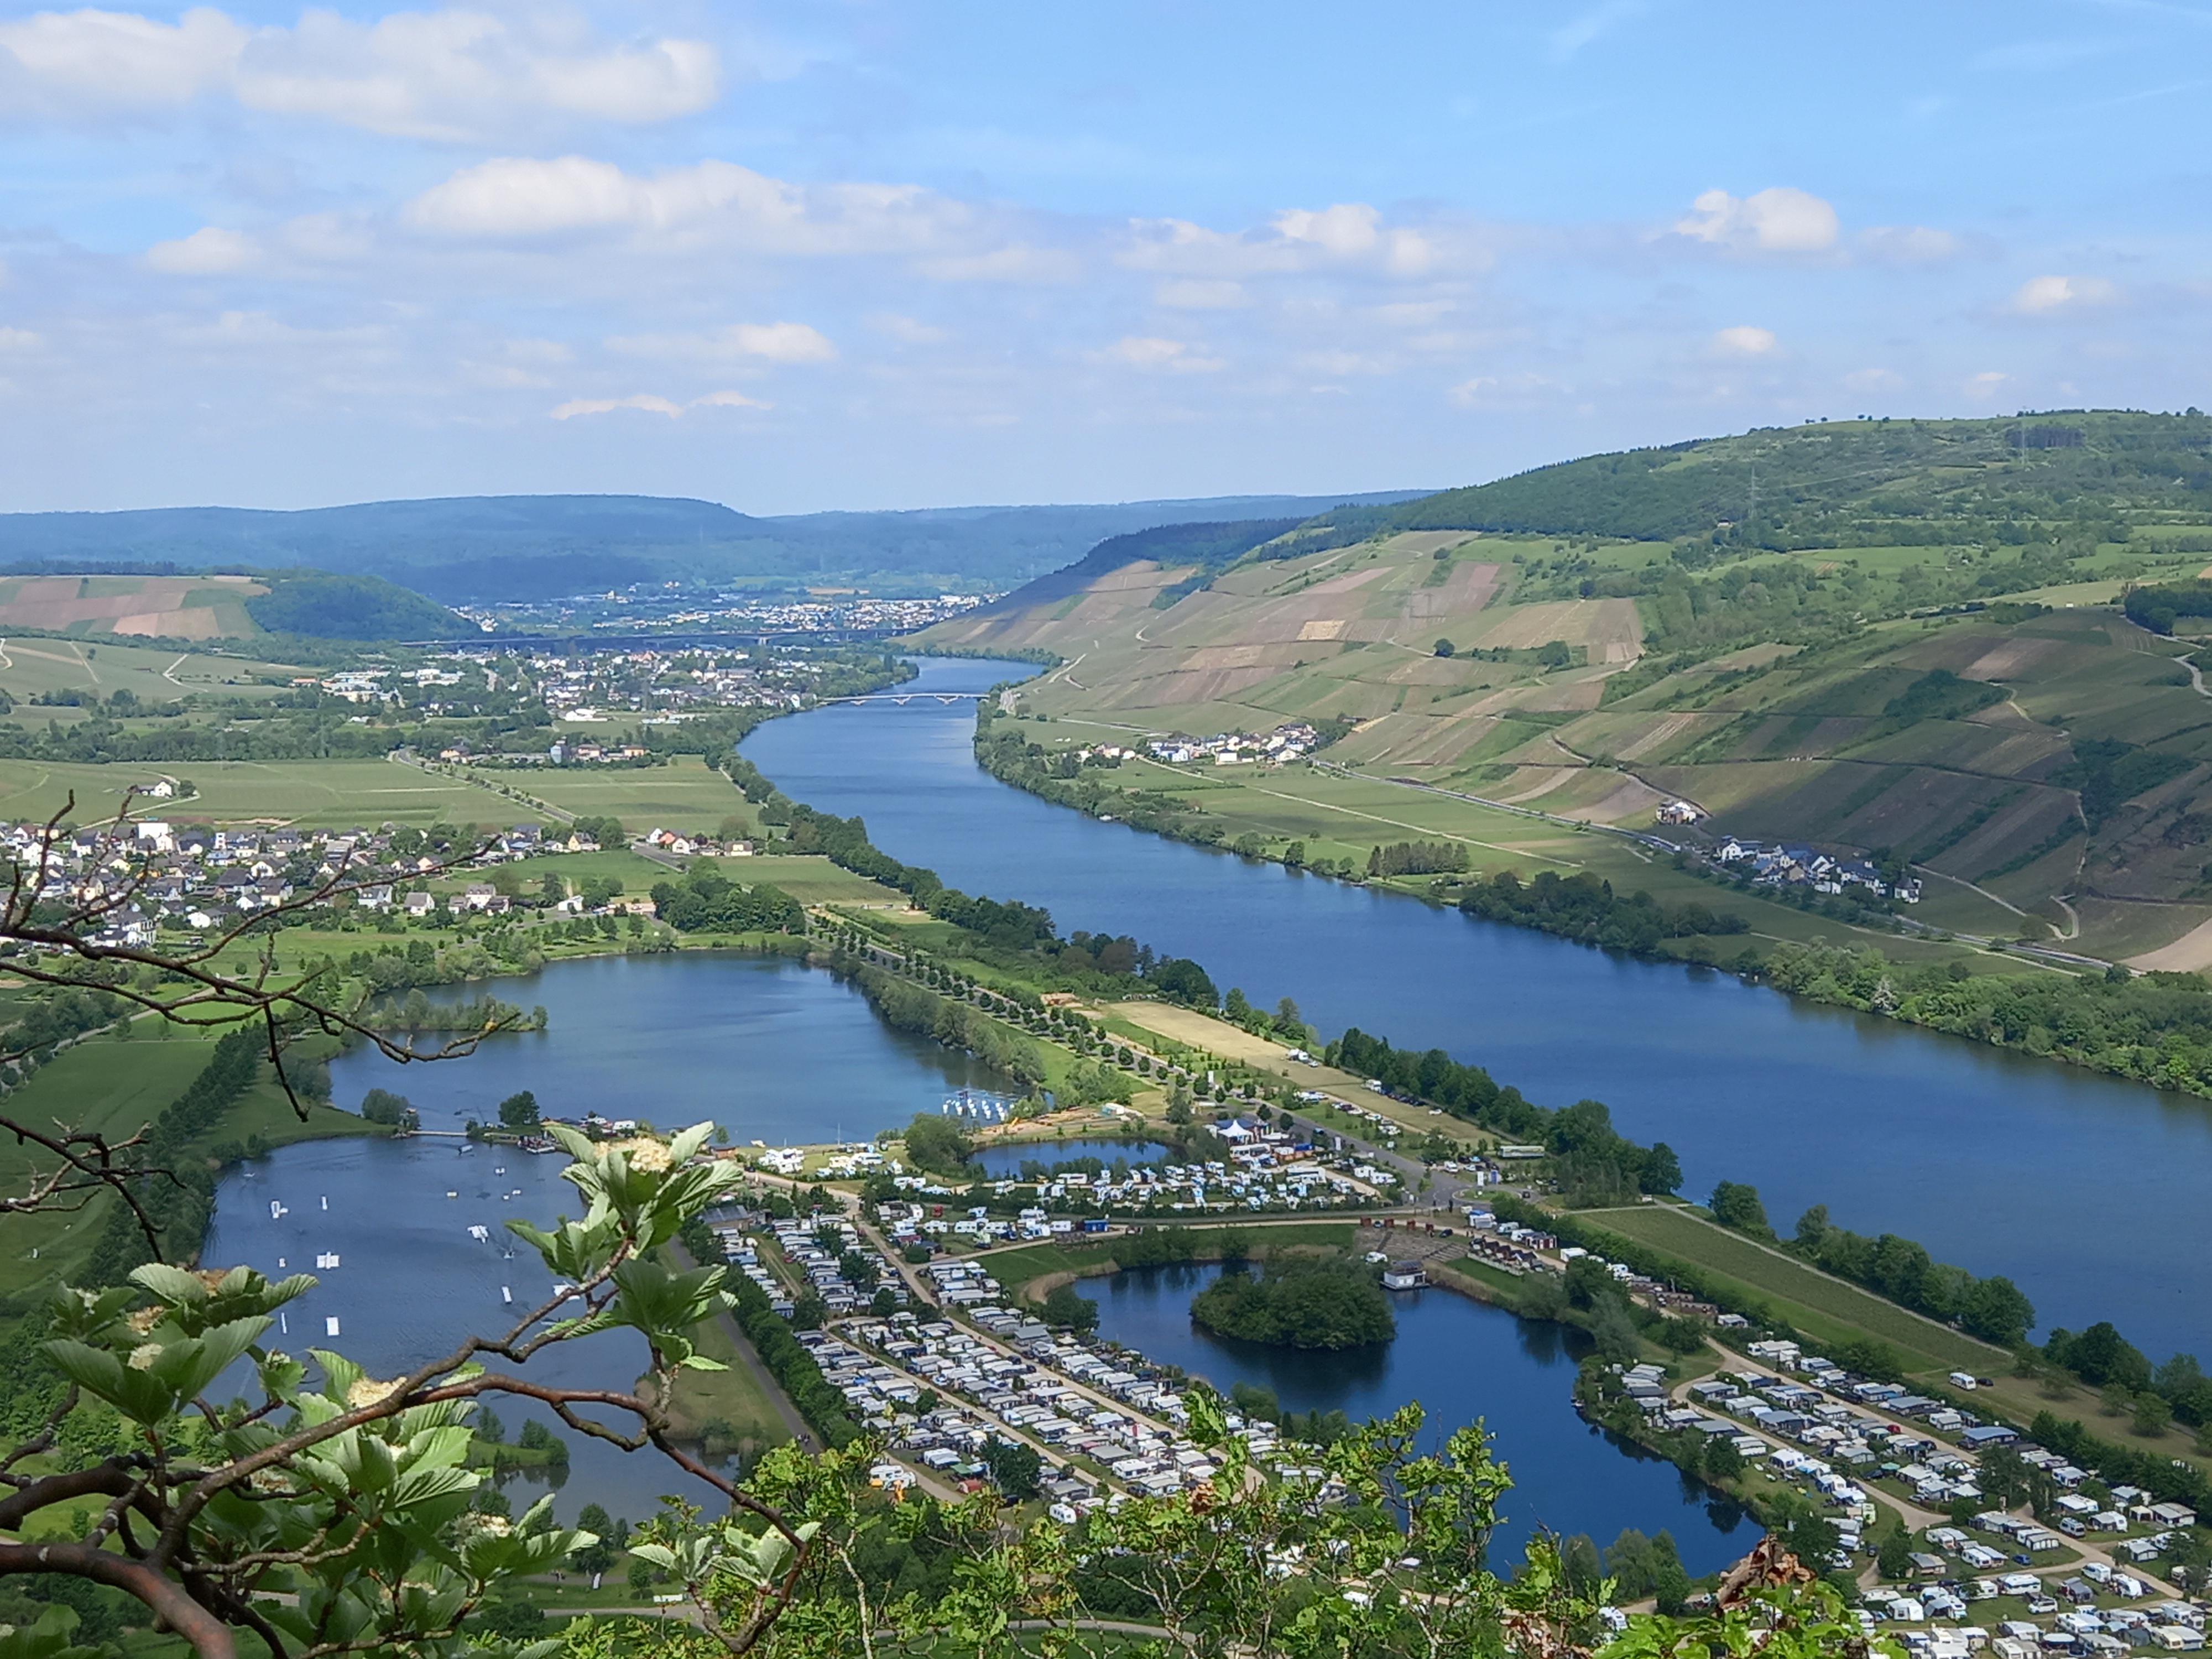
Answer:
[[[1683,1566],[1710,1573],[1759,1535],[1732,1502],[1686,1482],[1652,1458],[1575,1413],[1575,1367],[1588,1336],[1573,1325],[1520,1318],[1453,1290],[1391,1292],[1398,1338],[1343,1354],[1307,1354],[1214,1336],[1190,1321],[1190,1298],[1221,1276],[1219,1265],[1135,1267],[1084,1279],[1097,1298],[1099,1336],[1181,1365],[1228,1394],[1232,1383],[1274,1389],[1285,1411],[1383,1416],[1420,1400],[1422,1447],[1482,1418],[1513,1471],[1491,1559],[1520,1559],[1528,1535],[1588,1533],[1608,1546],[1624,1526],[1668,1528]]]

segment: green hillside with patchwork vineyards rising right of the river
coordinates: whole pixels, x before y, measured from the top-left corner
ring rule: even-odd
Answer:
[[[1310,768],[1113,779],[1230,841],[1358,863],[1418,825],[1540,867],[1582,854],[1431,790],[1639,830],[1688,799],[1701,832],[1918,867],[1927,922],[2212,967],[2203,416],[1754,431],[1338,509],[1225,568],[1108,551],[925,639],[1066,659],[1022,697],[1048,750],[1343,732],[1323,759],[1356,796]]]

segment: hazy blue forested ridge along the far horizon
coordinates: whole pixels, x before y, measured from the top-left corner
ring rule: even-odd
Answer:
[[[750,518],[717,502],[657,495],[480,495],[292,513],[243,507],[4,513],[0,564],[307,564],[383,575],[449,604],[542,599],[670,577],[1006,588],[1057,571],[1110,535],[1194,520],[1303,520],[1338,500],[1223,495]]]

